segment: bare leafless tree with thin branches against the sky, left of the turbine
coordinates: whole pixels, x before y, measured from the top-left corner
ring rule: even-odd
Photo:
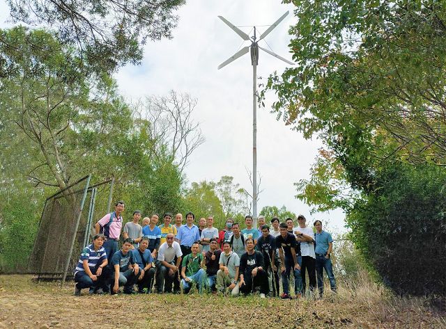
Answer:
[[[194,122],[192,114],[197,99],[188,94],[171,90],[167,96],[146,97],[136,108],[141,118],[151,122],[150,136],[155,157],[167,157],[176,161],[180,172],[187,166],[190,154],[203,142],[204,137],[199,123]]]

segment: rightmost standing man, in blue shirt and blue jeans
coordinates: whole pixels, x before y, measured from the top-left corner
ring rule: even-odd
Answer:
[[[316,254],[316,273],[318,279],[319,294],[323,295],[323,269],[327,273],[328,280],[330,280],[330,288],[333,292],[336,292],[336,280],[334,280],[332,261],[330,255],[333,249],[333,239],[330,233],[322,230],[321,220],[314,222],[316,228],[316,248],[314,250]]]

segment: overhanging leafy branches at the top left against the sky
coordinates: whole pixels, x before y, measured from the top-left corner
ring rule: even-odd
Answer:
[[[147,40],[171,38],[184,0],[7,0],[14,22],[49,26],[63,45],[77,48],[95,72],[139,63]],[[6,40],[0,37],[0,42]]]

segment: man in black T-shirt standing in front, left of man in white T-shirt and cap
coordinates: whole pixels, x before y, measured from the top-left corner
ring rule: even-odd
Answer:
[[[291,268],[294,273],[294,289],[296,296],[302,291],[302,278],[300,276],[300,265],[295,255],[296,241],[295,236],[288,232],[286,223],[280,223],[280,235],[276,237],[275,245],[279,248],[282,272],[282,299],[291,298],[289,291],[289,278]],[[282,248],[281,248],[282,247]]]

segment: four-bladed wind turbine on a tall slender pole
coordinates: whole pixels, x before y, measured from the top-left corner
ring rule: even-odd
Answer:
[[[254,26],[254,35],[249,38],[245,32],[238,29],[237,26],[229,22],[226,18],[222,16],[218,16],[218,18],[222,19],[222,21],[229,26],[234,32],[240,35],[245,41],[251,41],[251,45],[244,47],[233,54],[233,56],[229,57],[218,65],[217,69],[220,70],[222,67],[228,65],[229,63],[235,61],[237,58],[245,55],[249,48],[251,48],[251,64],[252,64],[252,216],[254,218],[254,225],[257,225],[257,65],[259,64],[259,49],[266,51],[268,54],[279,58],[280,60],[288,63],[290,65],[294,65],[293,62],[286,60],[285,58],[275,54],[273,51],[265,49],[259,46],[259,41],[266,37],[280,22],[289,14],[289,11],[284,13],[279,19],[277,19],[274,24],[272,24],[268,29],[263,32],[259,39],[256,38],[256,26]]]

